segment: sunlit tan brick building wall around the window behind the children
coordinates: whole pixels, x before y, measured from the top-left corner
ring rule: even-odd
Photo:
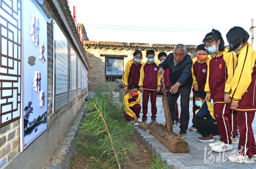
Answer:
[[[157,47],[152,47],[149,44],[143,43],[122,43],[122,42],[96,42],[96,41],[84,41],[84,49],[90,69],[88,71],[88,91],[94,92],[98,87],[102,87],[105,84],[105,56],[124,58],[124,69],[126,63],[133,58],[133,52],[137,49],[142,51],[143,62],[146,62],[146,51],[155,51],[155,61],[158,61],[158,54],[160,52],[166,52],[167,55],[173,52],[175,45],[163,45],[156,44]],[[186,45],[187,54],[191,58],[196,57],[196,46]],[[115,86],[115,85],[114,85]],[[116,89],[118,91],[118,88]]]

